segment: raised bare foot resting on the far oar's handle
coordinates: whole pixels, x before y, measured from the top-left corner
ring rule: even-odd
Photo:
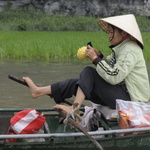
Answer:
[[[23,77],[23,80],[28,84],[32,98],[39,97],[40,96],[40,93],[39,93],[40,87],[37,87],[29,77]]]

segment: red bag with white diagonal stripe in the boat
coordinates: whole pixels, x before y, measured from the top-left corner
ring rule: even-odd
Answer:
[[[34,134],[37,133],[46,118],[35,109],[23,110],[16,113],[11,119],[11,128],[16,134]]]

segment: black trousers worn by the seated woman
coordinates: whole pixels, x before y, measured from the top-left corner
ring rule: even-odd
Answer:
[[[56,103],[61,103],[66,98],[76,95],[78,86],[82,89],[87,100],[96,104],[116,108],[116,99],[130,101],[125,84],[111,85],[97,73],[93,67],[86,67],[79,79],[68,79],[51,85],[52,94]]]

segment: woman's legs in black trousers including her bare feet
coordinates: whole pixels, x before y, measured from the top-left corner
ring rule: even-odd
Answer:
[[[23,79],[29,85],[33,98],[49,94],[54,98],[56,103],[61,103],[64,99],[76,95],[75,103],[79,103],[79,105],[83,103],[84,99],[89,99],[95,103],[107,105],[114,109],[116,99],[130,100],[129,94],[121,85],[110,85],[92,67],[86,67],[81,72],[80,79],[69,79],[46,87],[37,87],[28,77],[24,77]],[[66,106],[56,105],[56,108],[68,112]]]

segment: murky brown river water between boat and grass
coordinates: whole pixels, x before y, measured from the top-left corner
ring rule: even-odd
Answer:
[[[55,105],[49,96],[32,99],[27,87],[10,79],[8,75],[17,77],[29,76],[39,86],[79,77],[82,69],[89,64],[70,62],[24,62],[0,60],[0,108],[49,108]],[[147,65],[150,75],[150,65]]]

